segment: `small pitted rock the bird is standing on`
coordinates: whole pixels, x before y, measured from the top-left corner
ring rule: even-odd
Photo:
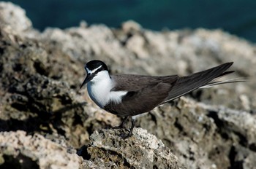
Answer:
[[[156,136],[135,128],[131,138],[120,138],[115,130],[99,130],[91,137],[89,160],[108,162],[113,168],[184,168]]]

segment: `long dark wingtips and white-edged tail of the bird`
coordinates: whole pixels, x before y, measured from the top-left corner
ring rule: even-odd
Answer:
[[[172,90],[170,90],[168,97],[162,103],[172,101],[173,99],[181,97],[181,95],[185,95],[192,90],[196,90],[197,88],[212,87],[217,84],[225,84],[231,82],[244,82],[236,79],[211,82],[214,79],[219,79],[221,76],[233,73],[234,71],[226,71],[227,68],[232,66],[232,64],[233,62],[224,63],[214,68],[209,68],[206,71],[200,71],[189,76],[179,77]]]

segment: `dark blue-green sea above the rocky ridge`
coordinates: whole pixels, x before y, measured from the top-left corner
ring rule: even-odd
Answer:
[[[256,0],[13,0],[26,9],[35,28],[69,28],[80,20],[89,25],[118,27],[135,20],[161,31],[182,28],[221,28],[256,42]]]

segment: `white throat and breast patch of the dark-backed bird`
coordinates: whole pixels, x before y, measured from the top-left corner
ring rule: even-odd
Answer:
[[[87,84],[89,96],[94,103],[103,108],[110,101],[121,103],[121,98],[127,94],[127,91],[110,91],[115,85],[108,74],[108,71],[99,71]]]

